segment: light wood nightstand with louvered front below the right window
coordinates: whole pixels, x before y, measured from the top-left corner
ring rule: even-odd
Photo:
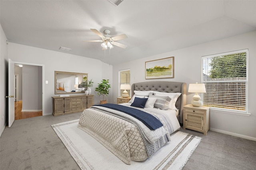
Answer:
[[[210,107],[194,107],[191,104],[183,107],[183,129],[187,128],[207,135],[209,125]]]

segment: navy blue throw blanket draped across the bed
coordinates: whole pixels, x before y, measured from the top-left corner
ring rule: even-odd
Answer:
[[[135,117],[136,119],[140,120],[150,130],[155,130],[155,129],[163,126],[163,124],[153,115],[150,115],[149,113],[146,113],[142,110],[134,109],[132,107],[126,107],[126,106],[122,106],[122,105],[118,105],[118,104],[100,104],[100,105],[94,105],[94,106],[102,106],[102,107],[107,107],[110,109],[122,111],[122,112],[124,112],[128,115],[131,115],[131,116]]]

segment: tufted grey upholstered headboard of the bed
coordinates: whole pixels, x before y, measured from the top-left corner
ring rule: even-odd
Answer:
[[[139,82],[132,84],[131,87],[131,97],[134,95],[134,90],[138,91],[158,91],[158,92],[168,92],[168,93],[181,93],[180,97],[176,102],[176,108],[179,109],[179,114],[177,116],[180,124],[183,124],[183,106],[186,105],[186,83],[183,82],[166,82],[166,81],[156,81],[156,82]]]

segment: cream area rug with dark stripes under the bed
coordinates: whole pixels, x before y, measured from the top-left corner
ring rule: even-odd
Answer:
[[[181,170],[202,139],[177,131],[171,135],[171,141],[153,156],[144,162],[131,161],[127,165],[79,129],[78,121],[58,123],[52,128],[82,170]]]

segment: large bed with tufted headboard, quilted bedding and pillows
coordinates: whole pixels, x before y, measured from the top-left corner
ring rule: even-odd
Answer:
[[[131,96],[128,103],[85,109],[78,124],[78,128],[126,164],[146,160],[180,128],[186,104],[186,83],[134,83]]]

